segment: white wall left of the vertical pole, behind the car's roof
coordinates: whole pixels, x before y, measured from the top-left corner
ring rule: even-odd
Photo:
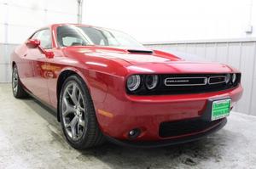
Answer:
[[[76,23],[76,0],[0,0],[0,82],[10,82],[9,54],[33,31],[53,23]]]

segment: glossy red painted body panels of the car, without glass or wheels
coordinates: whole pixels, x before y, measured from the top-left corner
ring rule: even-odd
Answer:
[[[61,25],[67,24],[49,26],[52,48],[45,50],[49,52],[48,57],[40,48],[28,48],[26,43],[15,49],[11,60],[18,67],[20,81],[29,93],[58,111],[63,79],[70,73],[79,75],[90,90],[101,131],[119,143],[131,140],[128,133],[134,128],[138,128],[140,134],[131,140],[132,143],[177,139],[183,142],[186,138],[196,138],[224,121],[170,137],[160,136],[160,125],[166,121],[200,118],[211,99],[230,98],[233,106],[241,98],[240,82],[236,87],[201,93],[129,94],[125,85],[131,75],[232,74],[239,71],[223,64],[186,61],[159,50],[144,54],[129,52],[127,48],[96,45],[60,47],[56,29]]]

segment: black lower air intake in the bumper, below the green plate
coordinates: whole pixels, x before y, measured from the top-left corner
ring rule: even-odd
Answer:
[[[159,135],[161,138],[181,136],[192,132],[201,132],[209,127],[220,123],[224,119],[217,121],[204,121],[196,118],[184,121],[168,121],[160,124]]]

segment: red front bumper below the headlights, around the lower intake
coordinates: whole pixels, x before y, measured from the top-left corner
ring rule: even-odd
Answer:
[[[226,91],[212,93],[179,94],[168,96],[130,96],[116,97],[108,94],[102,106],[96,107],[97,120],[102,132],[123,144],[160,142],[160,144],[173,144],[195,140],[224,127],[225,121],[218,124],[201,127],[201,130],[172,135],[160,136],[160,125],[163,122],[186,121],[201,119],[209,121],[212,100],[230,98],[236,103],[241,98],[242,87],[236,87]],[[108,112],[102,115],[99,110]],[[135,128],[141,130],[140,135],[130,139],[128,133]],[[146,145],[146,144],[145,144]]]

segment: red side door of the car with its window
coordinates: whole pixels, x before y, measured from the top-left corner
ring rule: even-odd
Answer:
[[[51,33],[49,29],[43,29],[34,34],[32,39],[40,40],[40,48],[49,50],[52,48]],[[26,76],[26,87],[39,99],[49,104],[49,93],[47,86],[47,58],[39,48],[28,48],[26,59],[31,63],[32,73]]]

